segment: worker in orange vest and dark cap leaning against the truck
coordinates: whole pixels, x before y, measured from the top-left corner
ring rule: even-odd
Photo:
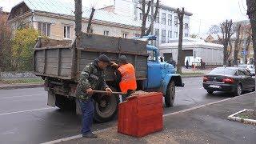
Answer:
[[[118,58],[118,64],[112,62],[112,66],[117,69],[115,71],[115,75],[119,88],[122,93],[130,95],[137,89],[134,66],[127,62],[125,55],[121,55]]]

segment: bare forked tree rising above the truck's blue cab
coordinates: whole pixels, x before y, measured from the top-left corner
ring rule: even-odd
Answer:
[[[142,33],[141,33],[141,37],[142,37],[145,35],[149,35],[151,32],[151,27],[153,26],[154,20],[155,18],[157,18],[157,15],[158,15],[159,0],[157,0],[155,4],[154,4],[154,0],[150,0],[149,2],[146,2],[146,0],[141,0],[139,1],[139,3],[142,5],[141,7],[138,7],[139,10],[142,10]],[[154,16],[153,18],[151,18],[151,21],[153,22],[151,22],[150,27],[146,29],[146,20],[147,18],[149,18],[151,6],[155,6]]]

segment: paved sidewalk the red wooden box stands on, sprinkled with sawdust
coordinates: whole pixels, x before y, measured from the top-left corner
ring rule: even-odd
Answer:
[[[164,115],[164,130],[143,138],[118,134],[117,127],[97,131],[98,138],[75,138],[59,143],[251,143],[256,126],[227,120],[230,114],[254,109],[256,93],[227,98],[206,106]],[[66,139],[67,140],[67,139]],[[53,143],[53,142],[52,142]]]

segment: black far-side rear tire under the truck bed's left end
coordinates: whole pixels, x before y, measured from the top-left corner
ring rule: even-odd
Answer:
[[[61,110],[75,110],[75,102],[70,98],[66,98],[63,95],[55,94],[56,101],[55,106],[60,108]]]

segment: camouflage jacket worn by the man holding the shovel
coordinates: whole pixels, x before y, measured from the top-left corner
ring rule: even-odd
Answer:
[[[96,59],[82,70],[78,79],[76,97],[88,101],[91,95],[86,94],[86,89],[105,90],[107,87],[103,70],[98,67],[98,59]]]

